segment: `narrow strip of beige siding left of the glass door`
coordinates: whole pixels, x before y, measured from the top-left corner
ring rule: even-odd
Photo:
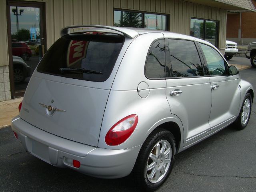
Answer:
[[[0,1],[0,66],[8,65],[8,41],[7,41],[7,22],[6,22],[6,2]]]

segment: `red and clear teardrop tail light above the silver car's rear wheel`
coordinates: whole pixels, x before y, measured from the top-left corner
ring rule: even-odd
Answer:
[[[116,146],[126,141],[138,124],[138,116],[129,115],[118,121],[105,136],[106,144]]]

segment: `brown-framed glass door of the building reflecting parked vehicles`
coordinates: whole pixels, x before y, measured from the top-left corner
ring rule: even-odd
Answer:
[[[7,2],[9,14],[10,84],[12,98],[23,96],[44,45],[44,6],[34,2]]]

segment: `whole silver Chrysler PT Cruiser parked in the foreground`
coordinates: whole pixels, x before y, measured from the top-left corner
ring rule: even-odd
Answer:
[[[38,64],[12,130],[49,164],[99,178],[132,172],[152,191],[178,152],[230,124],[244,129],[253,96],[252,85],[204,40],[70,26]]]

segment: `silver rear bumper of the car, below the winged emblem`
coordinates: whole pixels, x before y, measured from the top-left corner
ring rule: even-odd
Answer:
[[[141,146],[111,150],[88,146],[40,130],[19,116],[12,120],[12,130],[30,154],[57,167],[68,167],[98,178],[121,178],[132,171]],[[68,160],[78,160],[75,168]]]

